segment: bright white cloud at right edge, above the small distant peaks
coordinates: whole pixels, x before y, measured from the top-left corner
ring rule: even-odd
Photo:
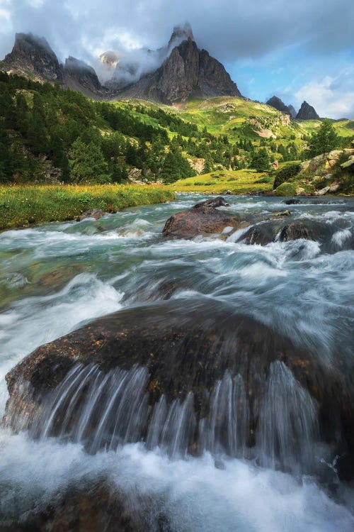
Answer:
[[[326,76],[313,80],[295,93],[297,105],[306,100],[319,116],[354,118],[354,67],[340,72],[337,77]]]

